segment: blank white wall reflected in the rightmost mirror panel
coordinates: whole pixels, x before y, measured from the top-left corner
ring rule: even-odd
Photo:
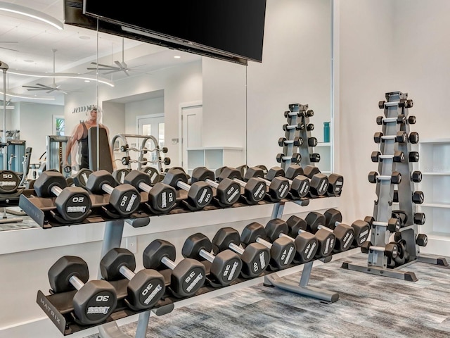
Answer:
[[[248,65],[248,165],[279,165],[289,104],[309,104],[312,134],[323,142],[323,122],[331,116],[330,4],[267,1],[262,63]]]

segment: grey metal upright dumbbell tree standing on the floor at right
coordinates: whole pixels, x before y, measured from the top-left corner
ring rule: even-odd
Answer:
[[[416,123],[414,116],[408,116],[408,108],[413,106],[413,101],[408,99],[407,93],[389,92],[385,94],[386,101],[380,101],[379,108],[384,110],[384,118],[389,119],[387,122],[381,122],[383,125],[383,135],[397,135],[397,132],[406,132],[409,135],[406,142],[397,142],[392,137],[390,139],[382,139],[380,142],[380,154],[389,155],[390,158],[378,160],[378,173],[383,176],[392,177],[392,173],[400,173],[402,179],[397,184],[397,190],[391,180],[378,180],[376,183],[376,194],[378,199],[374,202],[373,219],[374,224],[371,227],[371,243],[373,246],[385,247],[390,242],[392,233],[387,230],[388,220],[395,215],[393,213],[392,204],[398,203],[398,210],[403,213],[406,222],[401,224],[399,232],[401,239],[406,242],[406,250],[410,255],[407,263],[399,265],[395,268],[388,268],[388,258],[383,252],[369,250],[368,264],[366,267],[353,265],[349,262],[342,264],[342,268],[356,270],[373,275],[383,275],[387,277],[399,278],[401,280],[409,280],[416,282],[418,279],[414,273],[400,271],[399,269],[410,265],[416,261],[424,263],[433,263],[438,265],[447,265],[445,258],[433,258],[432,256],[421,256],[420,249],[416,243],[418,236],[418,224],[423,220],[420,214],[416,213],[416,203],[413,203],[413,194],[420,196],[421,192],[415,192],[414,182],[411,179],[413,173],[413,161],[416,161],[411,152],[411,143],[418,142],[418,134],[410,133],[410,124]],[[403,122],[400,122],[403,121]],[[401,151],[404,154],[403,162],[394,161],[394,152]],[[421,174],[420,174],[421,175]],[[425,218],[425,216],[423,216]],[[380,225],[379,223],[385,223]]]

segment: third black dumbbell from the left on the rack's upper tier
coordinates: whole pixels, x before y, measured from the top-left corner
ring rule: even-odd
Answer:
[[[176,206],[176,191],[168,184],[157,182],[150,185],[150,176],[139,170],[131,170],[125,177],[124,183],[131,184],[143,192],[148,193],[146,205],[153,213],[168,213]]]

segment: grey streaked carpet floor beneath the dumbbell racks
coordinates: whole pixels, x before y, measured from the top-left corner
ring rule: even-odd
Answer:
[[[418,281],[407,282],[345,270],[343,261],[366,266],[367,255],[315,266],[309,280],[338,292],[335,303],[258,284],[152,316],[147,337],[450,337],[449,267],[413,263],[402,270]],[[298,283],[300,274],[283,278]],[[121,330],[134,337],[136,323]]]

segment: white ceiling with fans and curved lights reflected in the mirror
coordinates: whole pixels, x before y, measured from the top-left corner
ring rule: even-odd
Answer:
[[[32,8],[64,22],[63,0],[4,0],[1,2]],[[63,30],[58,30],[39,20],[0,11],[0,61],[8,64],[10,70],[53,73],[52,49],[56,49],[56,73],[79,73],[94,76],[96,70],[86,69],[95,67],[91,62],[116,65],[114,61],[124,61],[131,68],[129,75],[133,76],[200,59],[200,56],[196,54],[174,51],[131,39],[122,39],[122,37],[86,30],[73,25],[65,24]],[[175,55],[181,56],[181,58],[174,58]],[[122,71],[110,75],[103,75],[103,73],[105,71],[99,70],[98,76],[113,82],[127,77]],[[24,77],[8,74],[8,72],[6,74],[6,92],[25,95],[37,94],[39,97],[53,96],[56,101],[49,101],[49,104],[63,104],[64,94],[62,92],[53,91],[47,94],[46,91],[27,91],[27,88],[22,87],[23,85],[35,86],[37,83],[51,85],[53,78]],[[86,85],[96,85],[95,82],[86,84],[84,80],[78,79],[57,78],[55,82],[60,89],[69,93],[82,87],[85,88]],[[3,92],[3,87],[4,80],[1,75],[0,92]],[[11,101],[24,100],[11,99]]]

